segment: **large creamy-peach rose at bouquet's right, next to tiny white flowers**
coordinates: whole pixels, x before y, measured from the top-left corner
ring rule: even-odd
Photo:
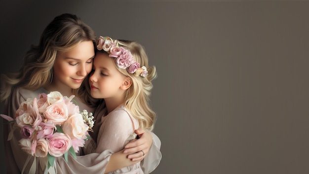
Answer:
[[[78,113],[70,116],[62,125],[63,132],[72,139],[85,139],[85,132],[87,132],[88,128],[89,126],[84,123],[81,114]]]

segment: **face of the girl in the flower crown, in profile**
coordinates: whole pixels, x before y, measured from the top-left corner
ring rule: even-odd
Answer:
[[[124,90],[121,86],[126,77],[116,69],[113,59],[101,52],[95,56],[89,78],[92,97],[119,99],[123,96]]]

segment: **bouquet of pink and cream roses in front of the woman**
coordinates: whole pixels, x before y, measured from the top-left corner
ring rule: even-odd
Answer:
[[[38,98],[28,98],[20,104],[15,120],[1,114],[8,121],[16,121],[21,129],[21,149],[40,157],[43,163],[40,165],[45,170],[53,167],[55,157],[64,155],[68,161],[68,152],[77,158],[75,153],[90,138],[88,131],[92,131],[94,124],[92,113],[79,112],[79,107],[71,101],[73,98],[74,95],[66,97],[58,91],[41,93]]]

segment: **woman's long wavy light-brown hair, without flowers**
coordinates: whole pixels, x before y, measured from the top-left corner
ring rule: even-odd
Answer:
[[[57,52],[68,51],[82,41],[92,41],[96,47],[95,33],[87,24],[73,14],[55,17],[41,34],[39,45],[32,45],[26,53],[19,72],[1,75],[0,101],[6,103],[16,87],[36,90],[50,83]],[[91,101],[89,95],[85,97]]]

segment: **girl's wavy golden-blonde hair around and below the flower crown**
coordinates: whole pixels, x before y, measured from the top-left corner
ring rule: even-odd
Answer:
[[[133,117],[139,121],[140,128],[152,131],[156,121],[156,114],[150,107],[150,95],[153,88],[152,81],[156,78],[156,70],[154,66],[148,65],[148,56],[144,47],[135,41],[117,40],[119,46],[129,50],[135,62],[140,66],[145,66],[148,71],[146,77],[135,76],[127,71],[127,69],[116,68],[125,76],[130,77],[132,85],[126,90],[125,107],[130,111]]]

